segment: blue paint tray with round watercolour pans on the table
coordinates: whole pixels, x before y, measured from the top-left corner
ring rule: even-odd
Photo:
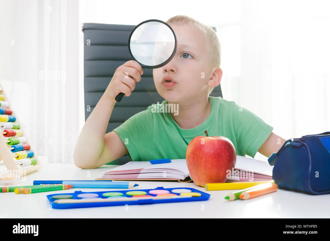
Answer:
[[[163,188],[47,195],[52,208],[84,208],[208,200],[210,194],[194,188]],[[139,200],[137,200],[139,198]]]

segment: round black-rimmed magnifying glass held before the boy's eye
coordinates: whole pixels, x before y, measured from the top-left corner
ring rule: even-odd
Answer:
[[[128,38],[128,50],[142,68],[157,69],[174,57],[177,51],[177,38],[166,22],[149,19],[139,23],[132,30]],[[120,102],[123,96],[124,93],[119,93],[115,100]]]

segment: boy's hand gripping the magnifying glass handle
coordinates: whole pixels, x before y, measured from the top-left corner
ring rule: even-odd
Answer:
[[[138,62],[134,60],[127,61],[116,69],[104,94],[114,103],[116,103],[115,98],[119,93],[130,96],[135,89],[135,82],[141,81],[142,74],[143,70]]]

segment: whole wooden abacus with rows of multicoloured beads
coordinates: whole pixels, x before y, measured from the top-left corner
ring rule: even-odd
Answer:
[[[9,107],[9,99],[0,84],[0,162],[4,161],[8,170],[24,174],[42,167],[29,139],[23,136],[24,129],[17,114]]]

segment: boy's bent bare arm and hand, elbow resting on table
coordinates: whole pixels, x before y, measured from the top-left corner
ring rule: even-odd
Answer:
[[[142,67],[134,60],[129,60],[116,69],[79,135],[73,152],[73,160],[77,167],[96,168],[128,153],[119,136],[114,131],[106,134],[106,130],[116,104],[116,96],[119,93],[130,96],[135,88],[135,82],[141,81],[141,74]]]

